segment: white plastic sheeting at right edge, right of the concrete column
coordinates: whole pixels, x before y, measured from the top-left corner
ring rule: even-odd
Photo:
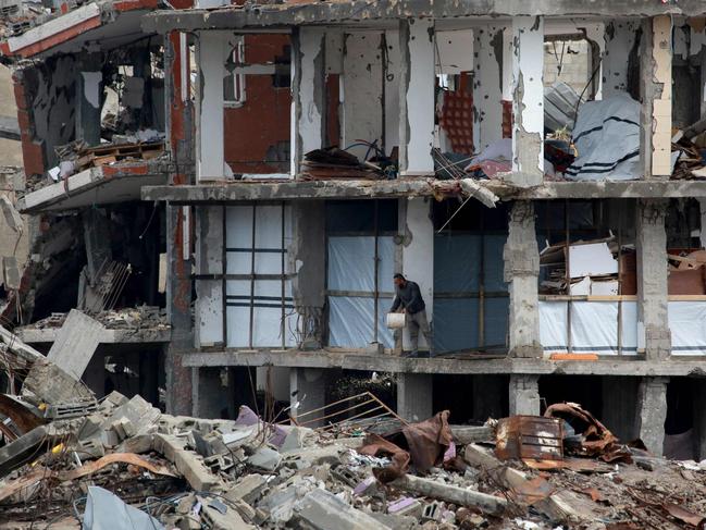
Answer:
[[[706,355],[706,301],[668,305],[672,355]]]

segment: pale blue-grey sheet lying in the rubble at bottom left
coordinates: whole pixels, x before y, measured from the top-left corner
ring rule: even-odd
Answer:
[[[119,496],[96,485],[88,486],[83,527],[86,530],[164,530],[160,521]]]

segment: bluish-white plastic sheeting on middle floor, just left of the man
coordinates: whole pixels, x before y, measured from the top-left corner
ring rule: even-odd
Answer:
[[[379,289],[392,285],[395,243],[392,236],[377,237],[379,263],[375,268],[374,236],[329,237],[329,291],[356,291],[370,296],[329,296],[329,345],[363,348],[375,340],[375,271]],[[392,287],[389,287],[392,288]],[[377,342],[394,346],[393,333],[385,325],[391,296],[379,296]]]

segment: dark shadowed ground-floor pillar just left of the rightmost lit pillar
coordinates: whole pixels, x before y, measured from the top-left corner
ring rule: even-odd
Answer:
[[[602,378],[603,411],[600,422],[622,442],[637,437],[635,410],[639,378],[606,375]]]

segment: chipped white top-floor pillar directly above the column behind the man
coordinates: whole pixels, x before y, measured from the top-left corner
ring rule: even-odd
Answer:
[[[402,175],[429,175],[434,173],[434,21],[399,24],[399,168]]]

